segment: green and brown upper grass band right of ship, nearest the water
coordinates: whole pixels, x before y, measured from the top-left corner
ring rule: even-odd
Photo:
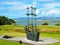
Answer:
[[[38,26],[41,32],[60,32],[60,26]]]

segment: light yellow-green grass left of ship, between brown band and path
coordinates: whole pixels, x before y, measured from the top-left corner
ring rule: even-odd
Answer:
[[[21,33],[21,32],[0,31],[0,36],[2,35],[9,35],[12,37],[25,37],[26,36],[25,33]]]

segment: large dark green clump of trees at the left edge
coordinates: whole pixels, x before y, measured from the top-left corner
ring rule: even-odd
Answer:
[[[13,23],[15,23],[13,19],[9,19],[5,16],[0,16],[0,25],[11,25]]]

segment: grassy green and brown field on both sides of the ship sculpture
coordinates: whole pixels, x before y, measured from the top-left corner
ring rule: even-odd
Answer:
[[[41,37],[49,37],[49,38],[55,38],[60,40],[60,26],[38,26],[38,28],[40,29],[39,31],[41,31],[40,33]],[[23,26],[17,26],[17,25],[0,26],[0,36],[2,35],[9,35],[12,37],[26,36]],[[6,43],[5,41],[0,40],[1,45],[3,45],[2,42]],[[60,43],[58,42],[56,44],[48,44],[48,45],[60,45]]]

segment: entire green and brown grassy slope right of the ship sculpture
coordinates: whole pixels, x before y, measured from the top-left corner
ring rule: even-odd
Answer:
[[[55,38],[60,40],[60,26],[39,26],[42,37]],[[60,45],[60,42],[48,45]]]

